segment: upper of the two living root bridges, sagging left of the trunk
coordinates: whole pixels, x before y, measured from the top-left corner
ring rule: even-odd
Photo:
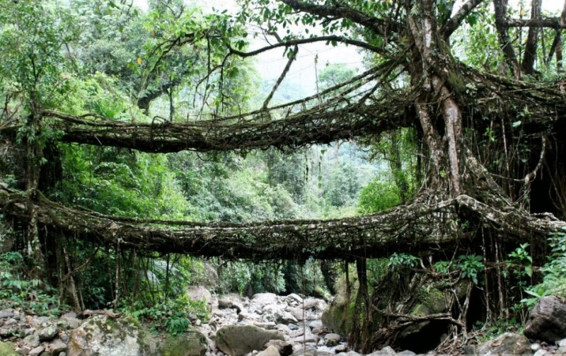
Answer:
[[[306,110],[298,115],[265,122],[203,120],[154,123],[117,122],[93,115],[82,117],[47,111],[59,119],[54,127],[64,132],[63,142],[123,147],[151,153],[193,151],[246,151],[269,147],[291,148],[328,144],[339,139],[380,134],[414,122],[406,103],[359,104],[354,107]]]

